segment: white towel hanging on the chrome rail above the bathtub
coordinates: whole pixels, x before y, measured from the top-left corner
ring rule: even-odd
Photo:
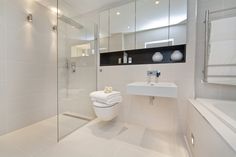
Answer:
[[[236,78],[228,77],[235,74],[236,66],[225,66],[236,63],[236,17],[228,17],[211,21],[209,65],[207,80],[210,83],[236,84]],[[216,77],[219,76],[219,77]]]

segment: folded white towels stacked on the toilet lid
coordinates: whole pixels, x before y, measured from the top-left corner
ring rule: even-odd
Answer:
[[[90,94],[92,101],[101,102],[105,104],[115,104],[122,101],[121,93],[113,91],[111,93],[105,93],[104,91],[96,91]]]

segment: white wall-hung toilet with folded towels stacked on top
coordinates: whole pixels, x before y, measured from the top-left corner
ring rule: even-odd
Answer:
[[[102,121],[110,121],[118,116],[122,97],[120,92],[95,91],[90,94],[96,116]]]

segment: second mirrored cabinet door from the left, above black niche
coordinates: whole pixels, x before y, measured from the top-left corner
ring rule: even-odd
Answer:
[[[135,2],[110,10],[110,51],[135,49]]]

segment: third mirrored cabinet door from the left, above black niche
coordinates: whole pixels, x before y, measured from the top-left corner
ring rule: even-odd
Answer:
[[[168,46],[169,0],[136,1],[136,48]]]

